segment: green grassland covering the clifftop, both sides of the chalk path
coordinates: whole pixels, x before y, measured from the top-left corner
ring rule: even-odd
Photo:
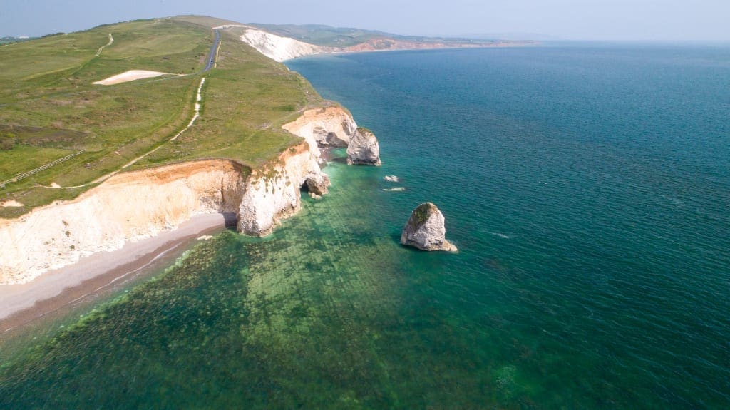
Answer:
[[[299,109],[323,101],[299,74],[221,31],[217,66],[200,74],[213,42],[212,26],[231,23],[185,16],[99,26],[0,46],[0,181],[69,153],[82,155],[0,189],[0,217],[74,198],[94,179],[159,147],[129,169],[196,158],[231,158],[249,166],[272,160],[298,139],[281,130]],[[114,42],[107,45],[109,35]],[[93,85],[131,69],[185,74]],[[194,114],[206,77],[201,116]],[[64,189],[53,189],[52,182]],[[79,188],[72,188],[85,185]]]

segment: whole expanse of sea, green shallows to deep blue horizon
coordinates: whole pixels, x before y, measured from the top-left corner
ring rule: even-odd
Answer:
[[[1,409],[730,408],[730,48],[288,65],[383,166],[0,352]],[[458,254],[399,246],[423,201]]]

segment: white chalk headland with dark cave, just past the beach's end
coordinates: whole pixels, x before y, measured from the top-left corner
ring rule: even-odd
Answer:
[[[238,231],[254,236],[271,233],[281,220],[299,211],[301,187],[310,184],[320,187],[321,195],[329,178],[320,171],[308,144],[289,148],[277,163],[251,174],[238,212]]]

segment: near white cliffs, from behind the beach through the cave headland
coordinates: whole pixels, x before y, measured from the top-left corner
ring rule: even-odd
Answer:
[[[317,195],[329,185],[304,142],[261,170],[197,160],[117,174],[72,201],[0,220],[0,285],[29,282],[95,252],[118,250],[196,214],[235,215],[240,232],[262,236],[299,209],[302,185]]]

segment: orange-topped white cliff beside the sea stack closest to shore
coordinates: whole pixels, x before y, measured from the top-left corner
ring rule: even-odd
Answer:
[[[282,128],[304,138],[310,145],[310,151],[319,158],[319,147],[347,147],[358,125],[352,115],[342,107],[326,107],[307,109],[301,117]]]

